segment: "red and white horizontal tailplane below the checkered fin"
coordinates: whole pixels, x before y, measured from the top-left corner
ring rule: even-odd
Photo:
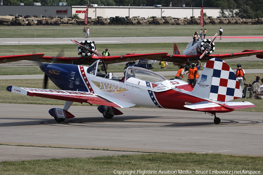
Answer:
[[[191,105],[184,105],[186,108],[190,108],[196,111],[203,111],[203,112],[208,112],[208,111],[213,111],[215,112],[229,112],[229,111],[234,111],[236,109],[243,109],[243,108],[251,108],[255,107],[254,104],[243,101],[243,102],[235,102],[235,101],[228,101],[228,102],[223,102],[222,104],[220,103],[214,103],[214,102],[209,102],[209,101],[202,101],[199,103],[191,104]]]

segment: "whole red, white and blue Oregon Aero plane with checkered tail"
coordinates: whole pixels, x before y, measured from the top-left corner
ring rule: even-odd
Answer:
[[[124,82],[108,73],[103,60],[91,66],[42,64],[40,69],[61,90],[8,86],[18,94],[64,100],[63,109],[52,108],[49,114],[57,122],[75,117],[68,110],[73,102],[98,104],[106,119],[123,114],[117,108],[133,106],[201,111],[214,115],[235,109],[250,108],[250,102],[232,102],[242,97],[235,74],[226,62],[208,60],[195,86],[179,79],[167,80],[162,75],[140,67],[128,67]],[[104,71],[102,71],[104,70]]]

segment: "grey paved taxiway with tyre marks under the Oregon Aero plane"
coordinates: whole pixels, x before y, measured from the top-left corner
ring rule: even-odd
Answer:
[[[123,115],[105,119],[96,106],[71,106],[69,111],[76,118],[58,123],[48,113],[54,107],[63,108],[59,105],[1,104],[0,143],[63,147],[65,151],[35,148],[31,154],[24,147],[1,146],[0,161],[94,154],[89,150],[66,148],[263,156],[261,112],[218,113],[221,124],[215,125],[213,117],[203,112],[122,108]],[[72,153],[68,154],[68,150]]]

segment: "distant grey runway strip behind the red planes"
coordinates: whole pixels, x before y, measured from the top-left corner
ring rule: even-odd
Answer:
[[[213,36],[206,36],[212,39]],[[223,36],[222,40],[217,36],[216,42],[254,42],[263,41],[261,36]],[[0,45],[36,45],[36,44],[75,44],[71,39],[81,42],[86,38],[0,38]],[[103,44],[125,44],[125,43],[187,43],[192,41],[192,36],[169,36],[169,37],[91,37],[91,41]]]

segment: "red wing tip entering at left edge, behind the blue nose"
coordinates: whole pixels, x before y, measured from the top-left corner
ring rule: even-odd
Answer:
[[[27,54],[27,55],[0,56],[0,64],[14,62],[14,61],[21,61],[21,60],[39,61],[44,55],[45,55],[44,53],[37,53],[37,54]]]

